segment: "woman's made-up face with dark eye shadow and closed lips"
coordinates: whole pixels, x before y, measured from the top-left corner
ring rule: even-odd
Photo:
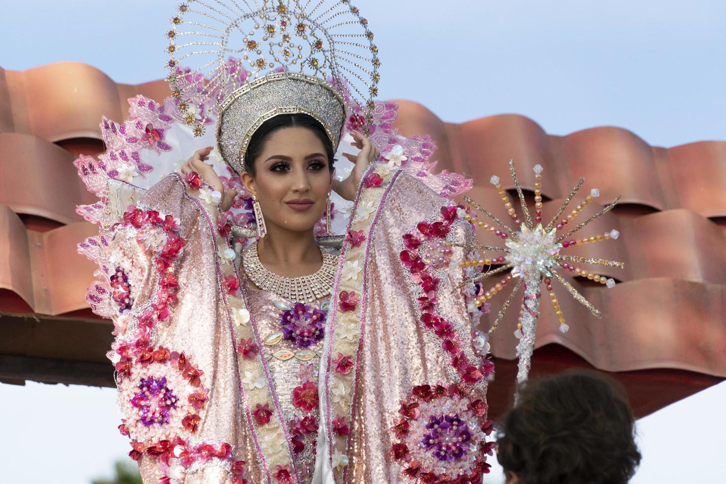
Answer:
[[[254,178],[242,173],[242,183],[256,195],[267,229],[314,227],[333,184],[322,141],[307,128],[282,128],[266,139],[253,163]]]

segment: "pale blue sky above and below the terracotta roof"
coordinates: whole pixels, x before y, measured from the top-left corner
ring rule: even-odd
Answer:
[[[163,32],[176,3],[3,1],[0,67],[72,60],[118,82],[162,78]],[[367,0],[358,6],[380,47],[381,98],[411,99],[453,122],[515,112],[551,134],[621,126],[666,147],[726,139],[723,0]],[[0,401],[0,455],[9,482],[87,483],[128,451],[115,428],[113,390],[0,384]],[[670,411],[650,421],[653,450],[644,468],[672,469],[665,430],[682,438],[681,427],[669,427],[676,418]],[[723,422],[715,422],[716,430],[704,420],[701,432],[720,435]],[[723,459],[703,454],[709,435],[688,434],[701,443],[693,459],[710,462],[714,473],[720,466],[723,475]],[[655,475],[657,481],[643,475],[637,482],[685,482],[677,472],[648,474]]]

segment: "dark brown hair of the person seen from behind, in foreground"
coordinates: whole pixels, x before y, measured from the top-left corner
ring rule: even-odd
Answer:
[[[625,484],[640,464],[623,387],[568,370],[521,389],[497,425],[497,458],[522,484]]]

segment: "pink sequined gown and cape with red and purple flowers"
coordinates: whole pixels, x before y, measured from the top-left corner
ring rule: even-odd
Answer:
[[[470,237],[460,209],[404,171],[362,184],[330,301],[297,305],[250,287],[197,187],[171,174],[133,207],[126,189],[91,301],[113,316],[120,430],[144,483],[481,476],[491,366],[457,289],[465,254],[444,244]],[[325,336],[301,343],[309,324]]]

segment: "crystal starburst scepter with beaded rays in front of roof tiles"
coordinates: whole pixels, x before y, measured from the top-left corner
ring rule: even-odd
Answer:
[[[567,229],[568,225],[579,216],[579,214],[587,207],[595,198],[600,196],[600,190],[592,189],[587,197],[579,202],[576,208],[572,209],[566,216],[563,216],[566,208],[576,196],[580,187],[582,186],[584,179],[580,179],[576,186],[571,190],[566,200],[560,205],[552,218],[550,223],[546,226],[542,224],[542,165],[534,165],[534,217],[530,213],[529,208],[524,200],[524,194],[517,178],[517,172],[514,169],[513,160],[509,162],[509,170],[514,182],[514,186],[519,197],[521,205],[521,213],[523,220],[520,219],[519,214],[510,202],[509,195],[502,188],[499,176],[492,176],[489,183],[494,185],[497,189],[499,198],[505,204],[507,213],[512,219],[512,223],[516,229],[512,229],[503,221],[499,220],[496,216],[490,213],[486,208],[479,205],[469,197],[464,196],[464,200],[468,202],[473,209],[478,210],[479,213],[483,213],[492,220],[492,225],[485,223],[478,219],[477,214],[474,210],[465,210],[461,208],[457,210],[457,217],[469,221],[473,226],[479,229],[485,229],[490,233],[502,237],[505,240],[505,247],[495,247],[489,245],[479,244],[464,244],[462,247],[468,247],[473,250],[489,250],[499,253],[505,253],[504,256],[496,256],[492,258],[478,258],[477,261],[465,261],[460,266],[464,267],[481,267],[481,274],[473,276],[470,279],[462,282],[459,287],[464,287],[467,284],[478,282],[481,287],[484,287],[484,279],[494,276],[495,274],[501,274],[505,276],[500,282],[494,283],[491,289],[483,290],[483,294],[479,295],[473,303],[476,306],[486,304],[488,300],[492,299],[497,292],[505,290],[507,285],[512,285],[513,290],[510,295],[502,304],[502,308],[497,313],[497,318],[494,319],[492,327],[489,328],[489,334],[492,334],[499,323],[504,318],[505,312],[509,307],[510,303],[514,300],[519,288],[524,286],[524,295],[521,305],[520,318],[518,319],[517,329],[515,330],[515,337],[519,339],[517,345],[517,356],[519,357],[517,381],[519,383],[524,382],[529,375],[530,358],[532,350],[534,350],[534,333],[537,327],[537,317],[539,316],[539,301],[542,298],[542,287],[546,289],[547,295],[549,295],[550,303],[552,304],[552,310],[557,316],[559,329],[561,332],[567,332],[569,327],[565,322],[562,311],[560,310],[560,303],[555,292],[553,291],[552,283],[559,282],[565,289],[572,295],[572,297],[585,305],[590,312],[600,318],[600,311],[597,311],[590,302],[581,295],[575,287],[567,282],[567,280],[561,276],[558,270],[561,268],[563,271],[569,271],[574,273],[575,276],[583,276],[594,282],[599,282],[605,285],[605,287],[612,288],[615,286],[615,279],[607,278],[600,274],[593,274],[583,268],[574,266],[572,263],[588,263],[596,264],[600,266],[617,267],[623,268],[623,263],[617,261],[608,261],[599,258],[581,257],[576,255],[563,255],[561,252],[567,247],[573,245],[584,245],[592,242],[601,242],[605,240],[617,239],[620,235],[619,231],[613,229],[605,232],[605,234],[592,235],[590,237],[582,237],[571,239],[576,231],[579,231],[584,226],[587,226],[590,222],[597,218],[600,218],[608,211],[612,210],[616,205],[620,197],[617,197],[610,205],[605,206],[599,210],[595,215],[590,216],[582,223],[577,224],[572,229]],[[564,233],[561,233],[564,232]],[[501,264],[496,268],[492,266],[494,264]],[[505,274],[505,271],[510,271],[510,274]],[[511,283],[511,284],[510,284]]]

